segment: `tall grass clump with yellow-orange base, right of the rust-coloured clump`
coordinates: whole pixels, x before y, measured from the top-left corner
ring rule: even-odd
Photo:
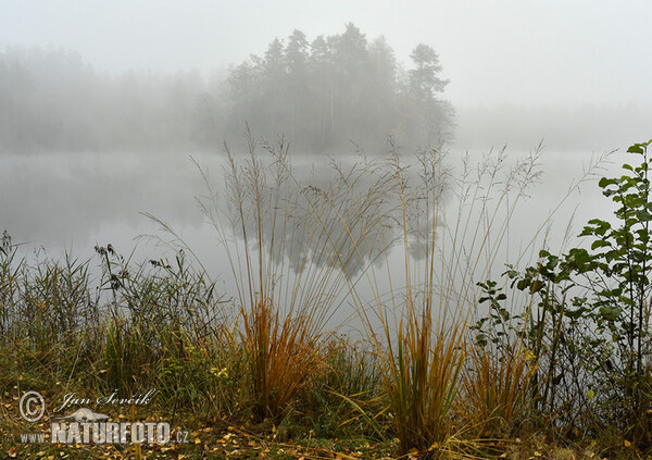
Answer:
[[[388,243],[400,235],[402,256],[386,251],[387,273],[376,265],[365,272],[371,301],[355,285],[351,290],[384,368],[402,455],[431,451],[453,432],[475,282],[488,276],[499,256],[509,220],[538,176],[537,159],[535,152],[509,169],[501,151],[477,169],[464,162],[454,178],[440,149],[421,152],[418,174],[393,151],[400,212],[397,227],[384,226],[383,235]],[[355,247],[364,259],[364,248]]]

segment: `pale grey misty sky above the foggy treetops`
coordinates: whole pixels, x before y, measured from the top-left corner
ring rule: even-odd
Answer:
[[[649,105],[651,18],[643,0],[21,0],[0,2],[0,46],[63,47],[101,71],[208,73],[293,28],[313,39],[353,22],[400,62],[432,46],[455,105]]]

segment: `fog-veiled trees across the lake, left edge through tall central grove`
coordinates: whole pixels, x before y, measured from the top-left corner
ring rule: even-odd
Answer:
[[[98,72],[62,49],[0,52],[0,149],[92,151],[211,149],[244,126],[284,135],[308,151],[388,136],[412,146],[449,139],[454,112],[441,98],[439,57],[427,45],[404,69],[384,37],[353,24],[312,41],[275,38],[262,57],[224,74]]]

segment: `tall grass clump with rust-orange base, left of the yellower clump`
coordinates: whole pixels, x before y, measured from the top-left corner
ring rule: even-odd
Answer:
[[[378,204],[372,185],[365,192],[367,206],[351,206],[364,171],[339,170],[334,182],[318,177],[301,185],[283,140],[263,144],[264,157],[251,135],[247,140],[244,158],[225,146],[225,198],[202,172],[210,190],[202,207],[234,275],[253,412],[259,420],[279,419],[327,369],[337,328],[329,321],[348,286],[341,264],[360,269],[351,235],[365,235]],[[342,220],[349,225],[342,226]]]

